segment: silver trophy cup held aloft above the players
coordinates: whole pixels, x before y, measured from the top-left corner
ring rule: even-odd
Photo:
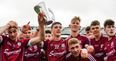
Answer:
[[[54,19],[53,18],[51,19],[50,15],[49,15],[49,12],[50,12],[52,14],[52,16],[54,16],[53,12],[46,7],[44,2],[40,2],[38,5],[36,5],[34,7],[34,10],[35,10],[35,12],[37,14],[39,12],[41,12],[41,11],[43,11],[45,13],[45,17],[44,18],[46,19],[46,25],[50,25],[53,22]]]

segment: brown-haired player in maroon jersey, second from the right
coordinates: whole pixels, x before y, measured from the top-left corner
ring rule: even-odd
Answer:
[[[102,35],[100,32],[100,23],[97,20],[92,21],[91,32],[94,35],[94,38],[91,39],[90,43],[94,47],[93,56],[98,59],[98,61],[104,61],[105,52],[103,51],[104,43],[107,41],[107,38]]]

